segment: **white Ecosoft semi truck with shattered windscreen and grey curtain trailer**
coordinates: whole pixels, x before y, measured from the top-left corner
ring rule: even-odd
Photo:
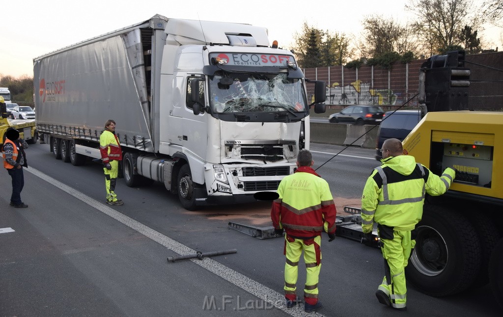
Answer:
[[[113,119],[128,186],[159,181],[189,210],[255,201],[309,148],[325,84],[308,104],[308,81],[265,28],[155,15],[35,58],[37,130],[81,165]]]

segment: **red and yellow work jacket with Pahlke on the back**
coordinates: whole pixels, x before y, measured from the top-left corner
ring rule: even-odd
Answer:
[[[336,232],[337,210],[330,188],[312,168],[301,166],[284,177],[278,194],[271,208],[274,228],[285,228],[287,235],[297,238]]]

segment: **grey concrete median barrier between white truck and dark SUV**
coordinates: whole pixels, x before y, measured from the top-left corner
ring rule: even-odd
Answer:
[[[379,126],[311,122],[311,142],[375,149]],[[361,137],[363,135],[363,137]]]

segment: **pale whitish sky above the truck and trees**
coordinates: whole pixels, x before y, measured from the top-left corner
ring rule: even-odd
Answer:
[[[482,0],[476,0],[482,2]],[[400,23],[415,19],[409,0],[10,0],[2,4],[0,74],[33,76],[33,58],[59,48],[148,20],[167,18],[247,23],[266,27],[269,39],[291,48],[295,32],[309,25],[353,37],[369,15]],[[486,26],[490,47],[501,46],[501,29]],[[486,47],[484,47],[486,48]]]

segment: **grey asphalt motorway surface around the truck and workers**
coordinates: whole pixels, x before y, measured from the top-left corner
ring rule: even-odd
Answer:
[[[312,145],[314,167],[340,149]],[[228,229],[228,222],[270,226],[269,202],[188,212],[160,184],[130,188],[119,179],[116,192],[125,204],[109,206],[99,164],[55,160],[46,144],[31,146],[27,156],[22,198],[28,208],[9,206],[10,177],[4,171],[0,178],[0,228],[14,230],[0,233],[1,316],[306,315],[282,304],[282,240]],[[317,172],[341,210],[359,206],[377,165],[372,150],[351,148]],[[383,274],[378,250],[340,237],[328,243],[323,236],[322,244],[319,314],[404,314],[375,298]],[[237,253],[166,261],[230,249]],[[305,273],[299,272],[300,289]],[[435,298],[409,285],[407,297],[410,316],[500,315],[487,286]]]

